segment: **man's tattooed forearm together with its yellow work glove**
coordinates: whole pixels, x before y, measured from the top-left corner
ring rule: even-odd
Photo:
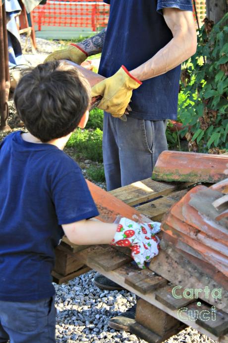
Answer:
[[[106,28],[97,35],[85,39],[78,44],[69,44],[65,49],[54,51],[44,62],[56,60],[69,60],[77,64],[81,64],[88,56],[102,52],[102,48],[106,36]]]

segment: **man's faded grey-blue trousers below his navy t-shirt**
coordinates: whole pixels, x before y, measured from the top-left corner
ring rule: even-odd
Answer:
[[[166,120],[127,116],[127,121],[105,112],[103,158],[107,189],[151,177],[158,156],[168,150]]]

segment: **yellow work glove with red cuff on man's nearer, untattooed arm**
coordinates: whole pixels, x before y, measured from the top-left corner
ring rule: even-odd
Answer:
[[[110,78],[101,81],[92,87],[92,97],[102,95],[98,108],[101,108],[114,117],[121,117],[125,112],[132,90],[142,85],[141,81],[135,79],[124,66]]]

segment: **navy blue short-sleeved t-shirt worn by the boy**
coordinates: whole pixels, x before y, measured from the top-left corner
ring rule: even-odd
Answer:
[[[51,144],[0,145],[0,300],[30,301],[55,293],[51,271],[61,224],[99,214],[78,165]]]

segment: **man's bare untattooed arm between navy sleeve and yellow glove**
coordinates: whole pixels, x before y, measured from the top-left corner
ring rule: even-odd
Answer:
[[[165,11],[166,13],[166,11]],[[191,12],[168,9],[164,18],[171,29],[173,38],[150,60],[130,71],[140,81],[154,78],[186,61],[196,51],[197,37]]]

